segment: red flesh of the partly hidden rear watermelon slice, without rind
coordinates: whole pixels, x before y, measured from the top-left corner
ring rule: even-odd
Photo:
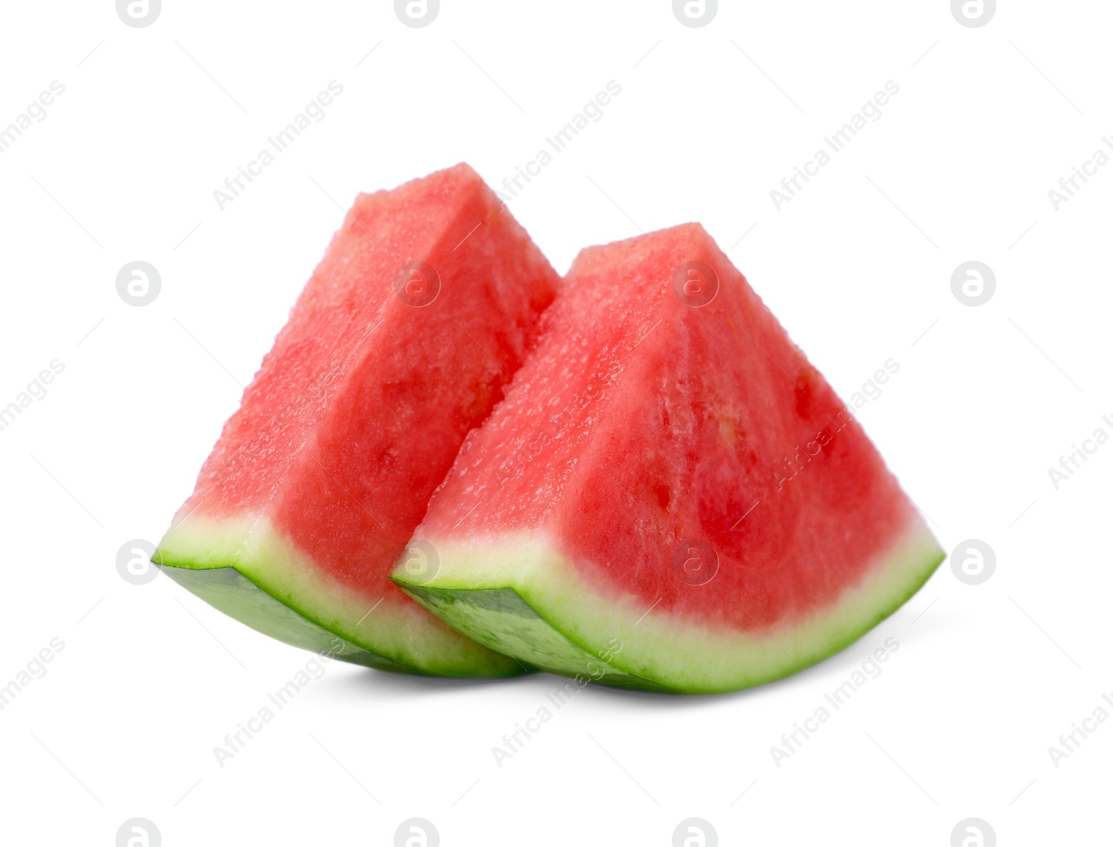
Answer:
[[[415,259],[441,277],[421,307],[394,293]],[[266,515],[345,585],[411,603],[390,567],[558,283],[465,165],[361,195],[179,519]]]

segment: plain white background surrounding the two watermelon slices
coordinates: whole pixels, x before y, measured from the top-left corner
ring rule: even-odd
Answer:
[[[1001,845],[1110,844],[1113,721],[1047,748],[1113,692],[1113,444],[1047,469],[1113,415],[1113,167],[1048,189],[1113,132],[1109,3],[945,0],[442,0],[426,28],[383,0],[4,3],[0,127],[66,91],[0,155],[0,405],[65,371],[0,432],[0,711],[10,844],[105,845],[155,821],[176,845],[939,845],[963,818]],[[370,53],[370,55],[368,55]],[[213,197],[329,80],[327,110],[221,211]],[[491,748],[563,681],[436,681],[327,667],[219,767],[213,748],[309,654],[116,554],[157,541],[359,190],[471,162],[496,186],[609,80],[622,92],[511,201],[558,270],[584,245],[700,220],[858,414],[948,551],[858,643],[779,683],[676,698],[591,687],[502,767]],[[770,189],[881,89],[900,92],[779,211]],[[1113,151],[1111,151],[1113,152]],[[745,235],[745,237],[742,237]],[[117,295],[154,264],[148,306]],[[957,265],[995,272],[985,305]],[[769,748],[893,637],[900,648],[790,759]],[[1113,693],[1111,693],[1113,697]],[[1113,707],[1106,703],[1113,712]],[[312,733],[312,735],[311,735]],[[987,841],[988,844],[988,841]]]

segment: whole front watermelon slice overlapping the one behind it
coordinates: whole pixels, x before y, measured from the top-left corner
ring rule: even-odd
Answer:
[[[699,225],[583,250],[394,580],[525,664],[728,691],[840,650],[943,560],[861,427]]]

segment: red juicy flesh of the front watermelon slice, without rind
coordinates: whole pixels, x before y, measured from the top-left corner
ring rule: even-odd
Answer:
[[[672,290],[691,260],[719,279],[700,307]],[[564,285],[430,503],[434,544],[536,532],[604,597],[751,630],[833,603],[918,520],[699,225],[583,250]],[[677,577],[690,540],[718,555],[707,584]]]

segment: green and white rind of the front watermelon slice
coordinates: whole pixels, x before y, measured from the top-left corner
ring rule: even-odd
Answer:
[[[904,605],[945,559],[917,518],[866,580],[826,609],[795,626],[739,633],[605,598],[545,539],[430,541],[436,575],[422,583],[400,567],[392,579],[463,634],[540,670],[678,693],[750,688],[829,658]]]

